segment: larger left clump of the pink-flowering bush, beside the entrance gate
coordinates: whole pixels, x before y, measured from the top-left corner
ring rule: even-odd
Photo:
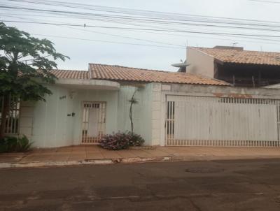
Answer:
[[[107,150],[124,150],[130,146],[130,140],[127,133],[120,132],[104,136],[99,143],[101,147]]]

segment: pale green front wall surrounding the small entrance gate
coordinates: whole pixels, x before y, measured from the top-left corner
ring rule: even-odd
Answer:
[[[44,101],[23,102],[20,133],[26,134],[34,147],[62,147],[80,144],[83,101],[106,102],[106,133],[130,131],[129,100],[135,87],[123,86],[119,91],[71,89],[49,85],[52,95]],[[140,87],[133,107],[134,132],[146,145],[152,140],[152,86]],[[72,116],[72,113],[75,115]]]

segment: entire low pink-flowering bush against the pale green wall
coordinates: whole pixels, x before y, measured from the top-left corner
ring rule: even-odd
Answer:
[[[113,133],[106,135],[99,141],[100,147],[107,150],[125,150],[130,146],[141,146],[144,139],[135,133]]]

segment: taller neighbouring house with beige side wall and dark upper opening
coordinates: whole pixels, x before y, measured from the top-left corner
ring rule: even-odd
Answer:
[[[187,50],[187,73],[224,80],[235,86],[263,87],[280,82],[280,53],[216,46]]]

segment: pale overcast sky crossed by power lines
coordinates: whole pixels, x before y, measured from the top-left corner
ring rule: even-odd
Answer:
[[[94,6],[109,6],[137,10],[152,10],[165,13],[182,13],[184,15],[204,15],[214,17],[229,17],[235,19],[261,20],[277,22],[280,20],[280,1],[251,1],[251,0],[92,0],[73,1],[59,0],[67,3],[86,3]],[[279,1],[279,3],[278,3]],[[42,1],[43,2],[43,1]],[[87,9],[63,8],[42,4],[0,1],[0,19],[9,21],[59,22],[66,24],[85,24],[85,27],[67,27],[46,24],[5,22],[11,27],[18,27],[38,38],[48,38],[55,44],[57,52],[70,57],[66,61],[57,61],[58,68],[71,70],[87,70],[89,63],[113,64],[135,68],[148,68],[165,71],[177,71],[171,64],[186,59],[186,46],[213,48],[215,45],[235,45],[245,50],[280,52],[279,41],[255,40],[251,38],[216,36],[209,34],[173,33],[166,31],[132,31],[123,29],[90,28],[95,25],[102,27],[142,27],[140,24],[129,26],[116,22],[99,20],[53,17],[55,15],[19,11],[1,8],[1,6],[22,6],[26,8],[42,8],[76,11],[83,13],[103,13]],[[105,13],[107,14],[107,13]],[[133,14],[132,14],[133,15]],[[52,16],[52,17],[50,17]],[[280,25],[280,22],[279,22]],[[155,29],[157,26],[153,25]],[[176,25],[179,29],[180,24]],[[248,29],[225,29],[182,26],[185,30],[217,31],[223,33],[247,33],[280,36],[277,31],[252,31]],[[113,35],[113,36],[112,36]],[[63,36],[55,37],[55,36]],[[125,36],[126,38],[124,38]],[[130,38],[127,38],[130,37]],[[65,38],[68,37],[68,38]],[[69,38],[70,37],[70,38]],[[77,39],[73,39],[77,38]],[[148,40],[147,41],[140,41]],[[276,40],[276,38],[274,38]],[[90,40],[90,41],[89,41]],[[102,41],[102,42],[100,42]],[[154,43],[152,43],[153,41]],[[117,42],[117,43],[109,43]],[[130,43],[130,44],[123,44]],[[169,43],[169,44],[165,44]],[[132,45],[133,44],[133,45]],[[136,44],[136,45],[135,45]],[[140,44],[140,45],[139,45]],[[172,45],[170,45],[172,44]],[[157,45],[157,46],[147,46]],[[160,46],[160,47],[159,47]],[[168,48],[167,48],[168,47]]]

